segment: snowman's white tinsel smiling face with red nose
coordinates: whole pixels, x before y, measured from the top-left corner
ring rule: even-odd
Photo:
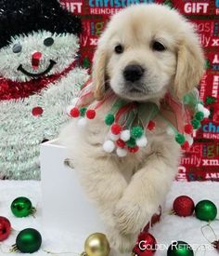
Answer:
[[[74,61],[78,47],[74,34],[20,34],[0,49],[0,75],[24,82],[61,73]]]

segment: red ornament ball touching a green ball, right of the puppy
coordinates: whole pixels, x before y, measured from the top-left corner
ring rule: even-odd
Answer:
[[[176,215],[187,217],[192,215],[195,209],[195,204],[187,195],[181,195],[174,199],[173,209]]]

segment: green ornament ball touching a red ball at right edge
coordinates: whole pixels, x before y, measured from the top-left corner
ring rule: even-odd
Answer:
[[[202,200],[196,205],[195,214],[201,221],[213,221],[217,216],[217,208],[212,201]]]

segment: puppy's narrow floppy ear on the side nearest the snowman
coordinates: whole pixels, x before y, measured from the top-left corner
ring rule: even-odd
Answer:
[[[95,85],[95,98],[97,101],[103,99],[105,94],[105,83],[106,83],[106,63],[107,54],[104,47],[98,45],[95,52],[92,70],[92,79]]]

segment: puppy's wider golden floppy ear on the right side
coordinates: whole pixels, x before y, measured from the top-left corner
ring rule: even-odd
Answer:
[[[200,83],[204,72],[204,56],[197,34],[191,28],[179,44],[174,93],[179,100]]]

